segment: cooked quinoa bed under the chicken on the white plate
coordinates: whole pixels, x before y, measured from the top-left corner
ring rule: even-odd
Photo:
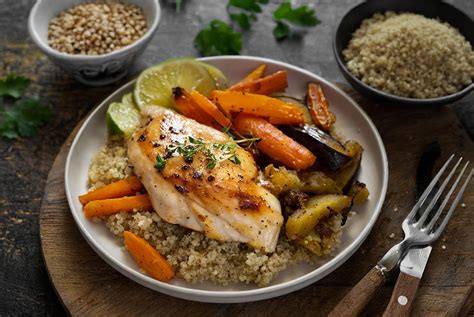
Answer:
[[[99,188],[123,179],[132,175],[132,170],[124,143],[112,140],[91,162],[89,187]],[[340,214],[335,214],[327,219],[326,226],[333,233],[321,238],[323,255],[331,254],[339,245],[341,218]],[[244,282],[265,286],[288,265],[317,263],[320,259],[306,248],[290,243],[283,234],[276,251],[264,253],[244,243],[209,239],[201,232],[167,223],[153,211],[122,212],[95,220],[103,220],[110,232],[120,239],[124,230],[144,238],[166,257],[177,276],[192,283],[207,280],[222,285]]]

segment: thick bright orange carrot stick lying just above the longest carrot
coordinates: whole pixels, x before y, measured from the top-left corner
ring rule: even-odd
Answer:
[[[214,90],[211,99],[226,111],[265,117],[273,124],[304,123],[304,112],[300,107],[276,98],[240,91]]]

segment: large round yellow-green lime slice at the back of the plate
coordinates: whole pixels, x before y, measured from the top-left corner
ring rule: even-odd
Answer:
[[[174,58],[145,69],[137,79],[133,92],[140,109],[155,105],[174,108],[172,88],[197,90],[205,96],[216,89],[214,79],[199,62],[190,58]]]

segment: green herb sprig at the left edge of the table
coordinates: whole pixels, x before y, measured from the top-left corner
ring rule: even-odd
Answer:
[[[23,76],[8,75],[0,80],[0,96],[19,98],[30,80]],[[5,101],[5,100],[4,100]],[[30,137],[51,118],[51,110],[36,98],[0,104],[0,136],[7,139]]]

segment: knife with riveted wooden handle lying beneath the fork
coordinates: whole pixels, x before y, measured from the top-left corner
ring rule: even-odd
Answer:
[[[416,200],[418,200],[431,180],[433,167],[441,154],[438,142],[428,144],[416,172]],[[400,274],[392,292],[390,302],[383,314],[388,316],[409,316],[421,276],[431,253],[431,246],[412,248],[400,262]]]

